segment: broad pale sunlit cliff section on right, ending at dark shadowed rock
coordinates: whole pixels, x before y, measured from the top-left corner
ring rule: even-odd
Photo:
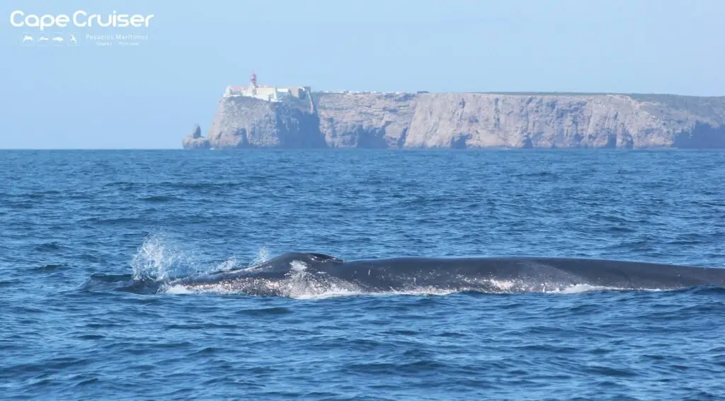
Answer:
[[[656,124],[622,96],[434,94],[419,99],[406,146],[664,146],[639,135]]]

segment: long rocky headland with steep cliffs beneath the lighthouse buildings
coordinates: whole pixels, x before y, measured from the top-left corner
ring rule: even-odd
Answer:
[[[725,96],[330,94],[309,103],[222,99],[207,138],[224,147],[725,148]]]

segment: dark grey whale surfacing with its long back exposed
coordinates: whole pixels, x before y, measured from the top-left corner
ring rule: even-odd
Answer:
[[[342,260],[289,252],[256,265],[176,278],[159,291],[228,291],[253,295],[291,292],[558,292],[595,289],[671,290],[725,286],[725,268],[567,257],[392,257]]]

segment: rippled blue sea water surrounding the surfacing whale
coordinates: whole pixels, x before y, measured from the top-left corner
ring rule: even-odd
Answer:
[[[725,289],[118,291],[289,252],[725,267],[725,152],[0,152],[4,400],[718,400]]]

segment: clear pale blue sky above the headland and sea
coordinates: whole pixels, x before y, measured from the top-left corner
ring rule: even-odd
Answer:
[[[10,13],[154,14],[134,47],[22,46]],[[0,149],[180,148],[229,84],[725,95],[722,0],[0,4]]]

